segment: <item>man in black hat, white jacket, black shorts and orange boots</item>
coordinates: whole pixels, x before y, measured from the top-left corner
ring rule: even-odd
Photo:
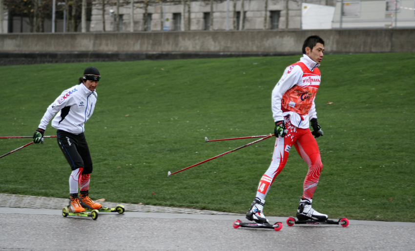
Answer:
[[[88,67],[79,78],[79,84],[66,89],[49,105],[38,129],[33,135],[35,143],[43,143],[43,135],[49,121],[56,128],[58,144],[71,166],[69,177],[69,211],[84,212],[84,208],[100,209],[101,204],[88,197],[89,179],[92,173],[92,160],[86,143],[84,123],[92,116],[97,103],[95,88],[100,80],[100,72]],[[80,194],[78,196],[78,186]]]

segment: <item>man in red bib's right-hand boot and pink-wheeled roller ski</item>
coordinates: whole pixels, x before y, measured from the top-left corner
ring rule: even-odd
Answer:
[[[327,214],[319,213],[311,208],[312,199],[300,200],[297,210],[297,218],[289,217],[287,219],[287,225],[292,226],[294,224],[309,224],[309,225],[319,225],[319,224],[331,224],[331,225],[341,225],[347,227],[349,225],[349,220],[347,218],[341,218],[339,220],[329,220]]]

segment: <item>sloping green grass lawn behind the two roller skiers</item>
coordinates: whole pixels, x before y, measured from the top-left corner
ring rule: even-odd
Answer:
[[[85,124],[90,196],[107,201],[245,213],[274,139],[167,177],[273,132],[271,91],[300,56],[1,66],[0,135],[33,135],[47,106],[87,66],[102,79]],[[326,55],[315,100],[324,136],[313,207],[330,218],[414,216],[415,54]],[[56,135],[49,124],[46,135]],[[0,155],[30,139],[0,139]],[[55,138],[0,159],[0,193],[68,197],[70,168]],[[267,216],[294,216],[307,165],[291,151]]]

